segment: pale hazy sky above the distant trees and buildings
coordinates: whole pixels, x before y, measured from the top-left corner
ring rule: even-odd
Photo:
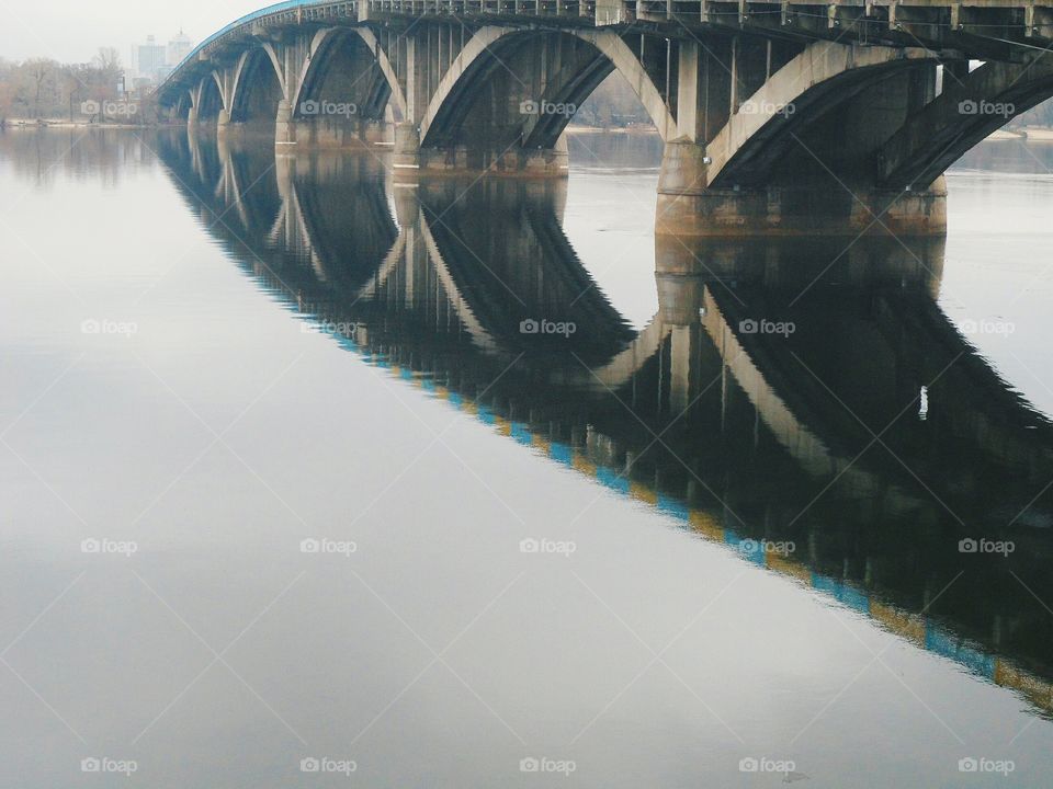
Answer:
[[[274,0],[38,0],[0,2],[0,57],[90,60],[101,46],[129,48],[154,34],[166,44],[182,27],[196,44],[228,22]]]

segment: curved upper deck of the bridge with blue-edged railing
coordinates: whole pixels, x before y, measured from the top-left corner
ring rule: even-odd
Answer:
[[[793,38],[861,39],[984,50],[998,42],[1039,49],[1053,42],[1053,0],[839,0],[836,3],[756,0],[284,0],[246,14],[205,38],[158,92],[180,81],[196,61],[269,27],[358,24],[397,18],[460,18],[490,24],[668,25],[671,35],[734,28]]]

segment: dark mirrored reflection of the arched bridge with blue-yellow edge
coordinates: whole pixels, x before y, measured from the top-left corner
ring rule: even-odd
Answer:
[[[937,306],[942,239],[666,237],[637,332],[563,232],[565,182],[393,192],[370,153],[160,152],[305,325],[1053,712],[1053,425]],[[521,330],[541,319],[576,331]]]

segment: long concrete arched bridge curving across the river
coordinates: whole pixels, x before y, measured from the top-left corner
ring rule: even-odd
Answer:
[[[938,235],[944,169],[1053,95],[1051,43],[1051,0],[287,0],[158,100],[279,147],[389,146],[409,180],[558,175],[616,70],[665,142],[659,233]]]

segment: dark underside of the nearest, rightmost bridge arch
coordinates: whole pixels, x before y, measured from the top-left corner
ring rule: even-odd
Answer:
[[[856,66],[805,81],[795,95],[772,91],[773,76],[707,145],[707,186],[925,190],[993,132],[1053,96],[1053,64],[989,62],[960,81],[948,72],[939,96],[935,65],[922,53]],[[981,111],[961,112],[966,101]],[[993,105],[1007,110],[983,111]]]

